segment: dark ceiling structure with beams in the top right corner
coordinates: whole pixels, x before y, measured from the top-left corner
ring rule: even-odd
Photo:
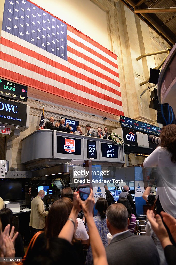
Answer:
[[[172,47],[176,42],[176,0],[120,0]]]

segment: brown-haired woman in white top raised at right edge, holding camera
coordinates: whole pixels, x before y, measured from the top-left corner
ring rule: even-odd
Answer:
[[[160,146],[145,158],[143,166],[157,166],[156,213],[165,211],[176,218],[176,125],[164,126],[161,129],[160,139]],[[170,240],[175,244],[169,229],[168,233]]]

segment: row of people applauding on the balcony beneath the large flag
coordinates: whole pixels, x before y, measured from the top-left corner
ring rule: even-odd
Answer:
[[[87,130],[87,135],[111,140],[110,133],[108,133],[107,127],[104,127],[104,132],[102,131],[102,127],[98,127],[98,131],[96,131],[95,129],[91,128],[90,124],[87,124],[85,126],[85,128]],[[76,126],[76,131],[72,132],[72,126],[69,125],[68,123],[66,123],[66,125],[65,125],[65,119],[64,118],[62,118],[60,120],[60,122],[57,122],[54,125],[54,118],[50,117],[49,121],[47,121],[45,123],[44,129],[62,131],[62,132],[65,132],[65,133],[73,133],[73,134],[84,135],[82,133],[80,125],[77,125]]]

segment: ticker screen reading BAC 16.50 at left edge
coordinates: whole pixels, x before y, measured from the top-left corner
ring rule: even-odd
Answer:
[[[27,101],[27,86],[0,78],[0,97]]]

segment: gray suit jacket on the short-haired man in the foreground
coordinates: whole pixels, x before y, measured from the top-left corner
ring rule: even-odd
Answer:
[[[160,258],[149,236],[136,236],[127,231],[112,239],[106,250],[108,265],[159,265]]]

